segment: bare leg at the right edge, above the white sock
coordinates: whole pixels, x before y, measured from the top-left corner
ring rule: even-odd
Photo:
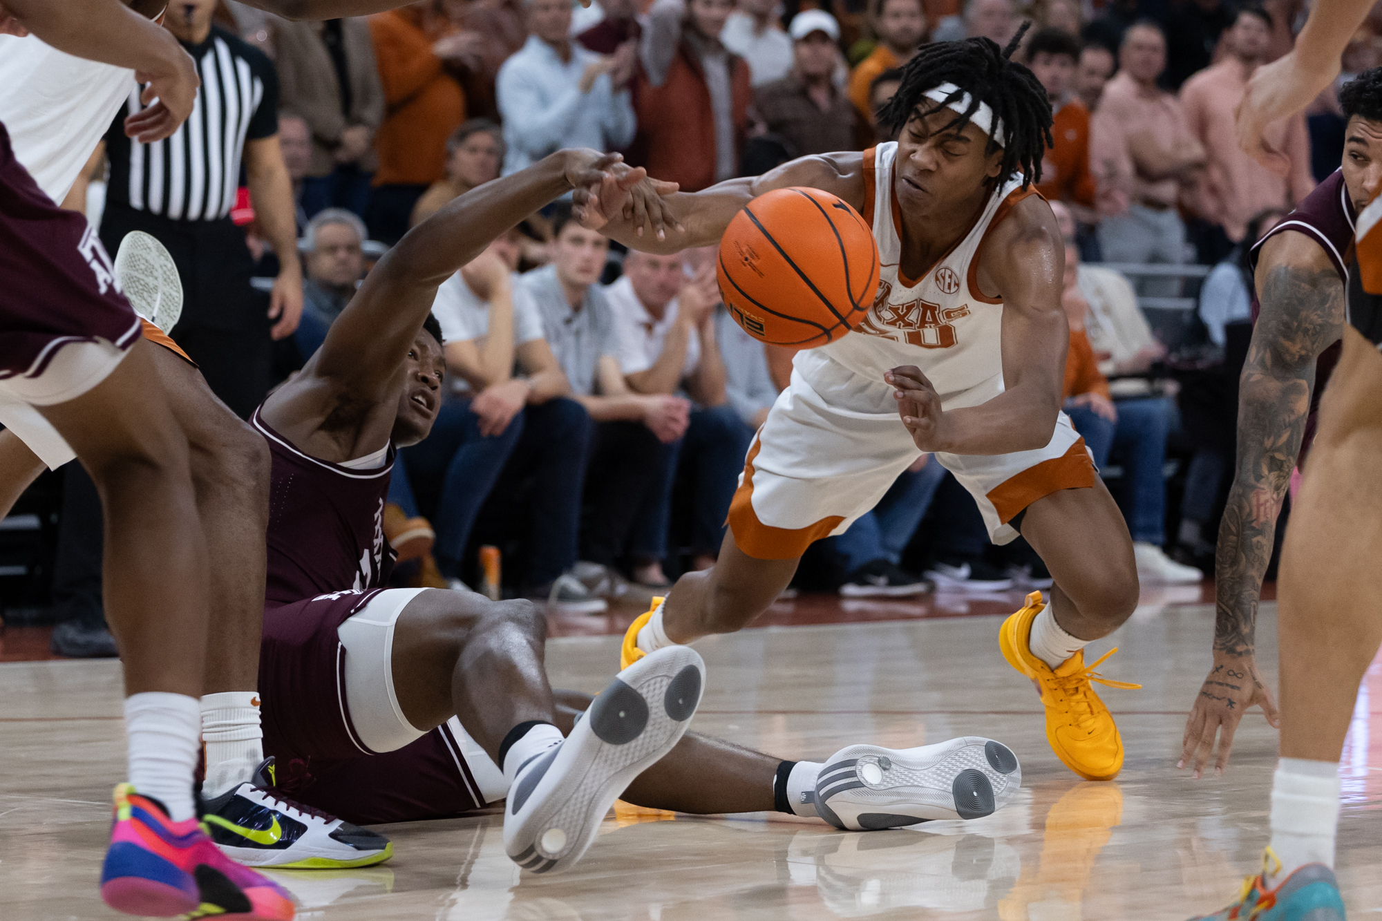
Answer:
[[[1352,326],[1281,549],[1281,755],[1339,761],[1382,643],[1382,355]]]

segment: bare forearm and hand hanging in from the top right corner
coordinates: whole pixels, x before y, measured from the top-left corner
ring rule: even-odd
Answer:
[[[1343,48],[1372,4],[1374,0],[1316,0],[1295,47],[1258,68],[1248,80],[1248,90],[1234,113],[1238,145],[1263,166],[1287,174],[1289,159],[1281,151],[1267,148],[1262,133],[1277,119],[1307,106],[1339,76]]]

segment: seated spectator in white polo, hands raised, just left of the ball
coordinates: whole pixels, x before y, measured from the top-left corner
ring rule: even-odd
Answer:
[[[749,449],[752,429],[744,425],[726,396],[726,368],[714,335],[714,310],[720,295],[714,267],[703,266],[687,279],[680,254],[654,256],[630,252],[623,277],[604,289],[614,308],[619,339],[619,369],[634,393],[681,394],[692,401],[685,434],[663,469],[663,494],[655,514],[638,523],[648,530],[640,541],[650,552],[634,579],[644,585],[668,582],[661,563],[666,557],[672,483],[676,467],[688,470],[695,516],[691,532],[692,566],[709,568],[724,542],[730,499]]]

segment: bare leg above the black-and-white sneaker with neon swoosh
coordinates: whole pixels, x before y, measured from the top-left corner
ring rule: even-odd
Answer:
[[[202,693],[253,691],[264,626],[268,445],[217,400],[196,368],[163,347],[153,354],[188,437],[196,509],[211,561]]]

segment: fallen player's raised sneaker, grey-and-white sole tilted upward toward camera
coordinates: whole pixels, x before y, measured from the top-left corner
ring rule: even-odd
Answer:
[[[668,646],[619,672],[549,754],[518,769],[504,808],[504,852],[524,870],[569,870],[619,794],[672,751],[701,704],[705,662]]]

